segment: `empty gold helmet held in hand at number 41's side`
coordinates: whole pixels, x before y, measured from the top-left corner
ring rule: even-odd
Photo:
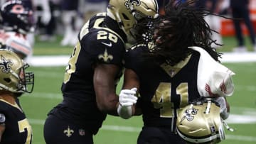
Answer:
[[[178,135],[188,143],[218,143],[225,139],[220,107],[211,101],[181,109],[176,126]]]

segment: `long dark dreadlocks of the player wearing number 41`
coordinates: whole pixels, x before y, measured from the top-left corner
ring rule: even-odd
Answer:
[[[198,46],[218,61],[220,53],[210,46],[216,41],[210,38],[211,33],[215,31],[210,29],[204,20],[204,16],[215,14],[196,9],[193,6],[194,2],[195,0],[184,3],[170,0],[166,5],[165,15],[154,23],[155,46],[149,50],[149,58],[153,58],[157,63],[167,62],[169,65],[176,65],[191,54],[189,46]],[[160,43],[156,43],[158,40]]]

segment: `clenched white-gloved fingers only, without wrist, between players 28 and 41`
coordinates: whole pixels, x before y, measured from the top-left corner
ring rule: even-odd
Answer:
[[[122,89],[119,94],[119,103],[121,106],[132,106],[137,103],[137,96],[135,96],[137,88]]]

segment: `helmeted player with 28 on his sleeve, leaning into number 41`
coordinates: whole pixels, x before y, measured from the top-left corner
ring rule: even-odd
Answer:
[[[65,70],[63,101],[44,124],[47,144],[93,143],[107,113],[118,116],[115,91],[126,44],[146,38],[157,11],[155,0],[110,0],[107,13],[82,26]]]

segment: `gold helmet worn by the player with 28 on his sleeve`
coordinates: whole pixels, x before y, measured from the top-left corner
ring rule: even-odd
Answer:
[[[134,39],[137,39],[135,36],[137,31],[132,30],[132,28],[135,28],[137,23],[142,23],[142,19],[157,18],[158,11],[159,7],[156,0],[110,0],[107,16],[119,23],[119,27],[127,35],[128,42],[132,43]],[[147,22],[144,21],[143,23]]]

